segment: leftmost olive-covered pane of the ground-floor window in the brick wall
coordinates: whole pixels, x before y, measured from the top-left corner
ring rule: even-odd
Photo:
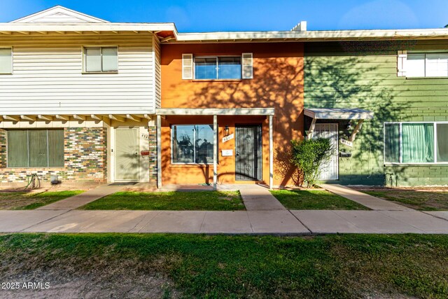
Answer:
[[[8,131],[8,167],[29,167],[28,132]]]

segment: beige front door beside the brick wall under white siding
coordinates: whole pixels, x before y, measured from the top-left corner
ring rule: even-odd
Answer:
[[[139,130],[115,132],[116,181],[139,181]]]

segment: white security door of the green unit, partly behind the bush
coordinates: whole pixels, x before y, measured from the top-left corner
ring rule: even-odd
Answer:
[[[338,167],[338,157],[337,153],[339,152],[337,148],[337,123],[316,123],[314,127],[313,138],[328,138],[330,139],[330,143],[335,149],[330,160],[325,162],[320,167],[320,176],[321,180],[335,180],[339,178],[339,167]]]

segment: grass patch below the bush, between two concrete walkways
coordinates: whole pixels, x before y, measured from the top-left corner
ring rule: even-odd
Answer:
[[[357,202],[323,190],[272,190],[271,193],[286,209],[368,209]]]

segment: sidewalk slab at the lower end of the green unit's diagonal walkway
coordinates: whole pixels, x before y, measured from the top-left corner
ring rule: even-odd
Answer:
[[[422,213],[421,211],[381,211],[381,214],[397,219],[430,234],[448,233],[448,221]]]

